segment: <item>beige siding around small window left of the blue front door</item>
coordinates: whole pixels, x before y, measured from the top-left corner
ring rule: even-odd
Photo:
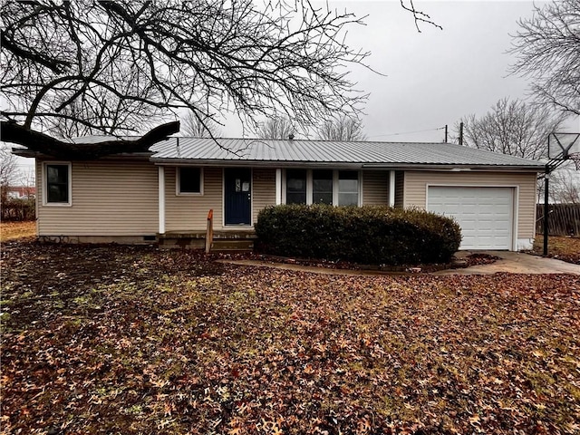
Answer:
[[[177,195],[175,167],[165,167],[165,231],[205,231],[214,210],[214,228],[223,227],[221,168],[203,169],[202,195]]]

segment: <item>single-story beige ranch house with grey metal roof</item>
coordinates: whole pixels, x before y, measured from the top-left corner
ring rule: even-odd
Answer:
[[[218,143],[171,137],[150,152],[83,161],[15,152],[36,158],[37,235],[44,240],[170,246],[189,237],[201,244],[210,209],[215,237],[239,238],[253,234],[266,206],[324,203],[452,216],[461,249],[533,244],[536,177],[544,170],[537,161],[450,143]]]

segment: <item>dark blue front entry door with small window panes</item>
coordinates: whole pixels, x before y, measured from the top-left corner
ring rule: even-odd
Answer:
[[[226,225],[250,225],[252,211],[252,170],[224,169]]]

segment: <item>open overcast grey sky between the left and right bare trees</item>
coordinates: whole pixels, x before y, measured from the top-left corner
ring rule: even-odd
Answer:
[[[532,15],[532,2],[416,2],[443,27],[422,24],[421,33],[399,2],[331,5],[368,14],[367,25],[352,32],[352,42],[370,50],[369,63],[386,74],[356,72],[361,87],[371,93],[364,117],[369,139],[439,141],[441,131],[391,135],[445,124],[450,128],[461,116],[486,113],[501,98],[527,97],[526,80],[507,75],[512,62],[507,50],[517,20]],[[567,127],[580,131],[580,118]]]

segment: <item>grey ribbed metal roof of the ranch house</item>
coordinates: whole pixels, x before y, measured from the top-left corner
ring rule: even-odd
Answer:
[[[217,143],[218,142],[218,143]],[[536,160],[453,143],[335,140],[169,138],[150,148],[158,164],[329,165],[369,168],[409,166],[502,167],[542,170]]]

